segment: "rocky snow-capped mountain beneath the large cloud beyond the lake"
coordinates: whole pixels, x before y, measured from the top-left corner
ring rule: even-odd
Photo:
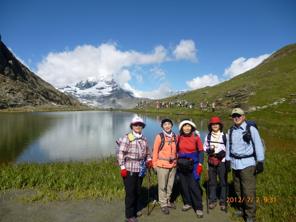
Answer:
[[[124,85],[124,89],[119,87],[112,74],[88,78],[80,81],[76,86],[57,89],[91,107],[133,108],[144,98],[128,83]]]

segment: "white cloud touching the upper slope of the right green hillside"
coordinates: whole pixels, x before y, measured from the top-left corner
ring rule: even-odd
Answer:
[[[246,61],[246,58],[240,57],[234,60],[230,67],[225,69],[223,76],[230,76],[230,78],[242,74],[257,65],[259,65],[264,59],[268,58],[271,54],[260,55],[258,58],[250,58]]]

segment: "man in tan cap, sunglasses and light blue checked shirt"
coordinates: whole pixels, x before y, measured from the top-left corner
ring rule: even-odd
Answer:
[[[244,216],[247,222],[254,222],[257,209],[256,174],[263,172],[263,146],[255,127],[250,127],[251,138],[248,138],[243,110],[234,108],[231,117],[235,125],[232,127],[231,135],[231,129],[228,131],[226,170],[231,172],[231,162],[234,190],[237,197],[243,200],[239,202],[239,211],[233,215]]]

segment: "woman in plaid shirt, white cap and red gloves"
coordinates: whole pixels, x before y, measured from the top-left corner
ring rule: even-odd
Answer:
[[[141,133],[146,124],[140,117],[135,117],[131,121],[131,133],[122,137],[119,144],[118,162],[121,168],[120,175],[123,178],[126,196],[124,199],[125,221],[139,222],[136,217],[142,215],[137,209],[138,198],[141,193],[141,186],[144,176],[141,176],[141,164],[147,162],[148,167],[152,166],[148,141]]]

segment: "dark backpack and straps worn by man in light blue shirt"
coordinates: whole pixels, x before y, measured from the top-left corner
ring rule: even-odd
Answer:
[[[245,122],[247,124],[246,126],[246,131],[243,132],[244,135],[243,135],[243,139],[244,141],[246,142],[249,142],[251,141],[252,142],[252,146],[253,146],[253,153],[251,155],[247,155],[247,156],[243,156],[243,157],[238,157],[238,156],[234,156],[235,159],[244,159],[244,158],[249,158],[249,157],[254,157],[256,159],[256,153],[255,153],[255,144],[254,144],[254,141],[252,140],[252,136],[251,136],[251,126],[255,127],[258,131],[258,126],[256,125],[255,122],[253,121],[246,121]],[[232,139],[231,139],[231,134],[232,134],[232,131],[233,131],[233,127],[230,127],[229,129],[229,152],[231,153],[231,147],[232,147]],[[259,133],[259,132],[258,132]],[[263,154],[265,155],[265,152],[266,152],[266,147],[265,147],[265,142],[264,140],[262,139],[262,137],[260,137],[261,139],[261,143],[262,143],[262,147],[263,147]]]

